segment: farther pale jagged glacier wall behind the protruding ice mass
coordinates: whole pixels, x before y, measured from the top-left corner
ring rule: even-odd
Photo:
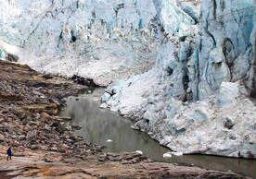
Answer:
[[[0,37],[23,49],[19,62],[103,86],[150,69],[161,30],[195,23],[168,0],[1,0],[1,8]]]

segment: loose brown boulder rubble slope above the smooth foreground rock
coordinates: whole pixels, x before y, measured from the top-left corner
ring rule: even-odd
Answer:
[[[2,145],[78,154],[96,151],[74,134],[72,126],[63,125],[65,119],[57,115],[61,99],[87,87],[39,75],[29,66],[1,61],[0,68]]]

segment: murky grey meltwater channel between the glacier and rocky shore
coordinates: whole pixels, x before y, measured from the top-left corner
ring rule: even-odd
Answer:
[[[61,113],[72,118],[74,124],[82,129],[78,134],[89,143],[106,146],[105,151],[122,152],[142,150],[149,159],[167,161],[184,165],[195,165],[218,171],[232,171],[256,178],[256,160],[231,159],[205,155],[186,155],[163,159],[162,154],[169,151],[148,137],[145,133],[136,131],[130,126],[130,121],[109,110],[99,109],[99,98],[102,89],[96,89],[92,94],[67,99],[67,108]],[[106,142],[111,139],[112,142]]]

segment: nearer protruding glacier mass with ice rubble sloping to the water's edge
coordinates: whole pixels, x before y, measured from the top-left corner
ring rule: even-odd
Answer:
[[[198,33],[163,39],[156,65],[102,101],[173,150],[255,158],[253,3],[202,1]]]

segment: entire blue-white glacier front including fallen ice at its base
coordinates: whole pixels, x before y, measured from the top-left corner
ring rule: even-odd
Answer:
[[[0,2],[1,41],[19,47],[0,55],[114,81],[102,107],[170,149],[256,158],[255,0]]]

